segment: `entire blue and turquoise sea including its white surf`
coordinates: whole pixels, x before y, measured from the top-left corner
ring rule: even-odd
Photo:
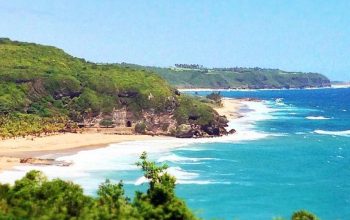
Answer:
[[[261,100],[244,102],[244,117],[230,122],[238,131],[232,136],[111,144],[59,158],[74,161],[72,167],[39,169],[73,180],[91,195],[106,178],[124,180],[133,197],[147,184],[134,165],[145,150],[169,164],[178,196],[204,219],[288,219],[299,209],[321,219],[350,219],[350,89],[221,95]],[[18,178],[32,168],[17,167],[0,178]]]

